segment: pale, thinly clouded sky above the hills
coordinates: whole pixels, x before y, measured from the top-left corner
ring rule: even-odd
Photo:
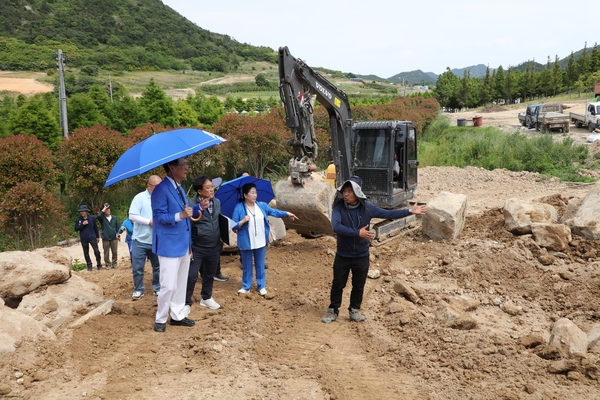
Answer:
[[[545,64],[598,41],[593,2],[163,0],[199,27],[311,67],[389,78],[477,64]]]

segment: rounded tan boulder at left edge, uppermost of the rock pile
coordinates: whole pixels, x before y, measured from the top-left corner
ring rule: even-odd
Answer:
[[[71,277],[71,256],[60,247],[0,253],[0,297],[20,299],[41,286]]]

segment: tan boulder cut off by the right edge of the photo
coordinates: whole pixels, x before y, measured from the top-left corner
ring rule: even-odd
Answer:
[[[575,235],[600,239],[600,182],[596,182],[581,201],[570,201],[561,221]]]

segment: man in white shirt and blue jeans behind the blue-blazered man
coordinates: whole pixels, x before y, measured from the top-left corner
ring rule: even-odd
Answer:
[[[152,264],[152,291],[158,296],[160,290],[160,268],[158,256],[152,252],[152,191],[161,182],[158,175],[152,175],[146,183],[146,190],[138,193],[131,201],[129,219],[133,222],[131,244],[131,270],[133,273],[132,300],[144,296],[144,267],[146,259]]]

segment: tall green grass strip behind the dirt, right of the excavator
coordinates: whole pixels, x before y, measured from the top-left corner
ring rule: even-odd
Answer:
[[[570,138],[555,142],[552,134],[529,138],[515,131],[506,134],[497,128],[450,126],[447,117],[438,117],[419,142],[420,166],[480,167],[487,170],[537,172],[563,181],[593,182],[580,173],[588,149]]]

